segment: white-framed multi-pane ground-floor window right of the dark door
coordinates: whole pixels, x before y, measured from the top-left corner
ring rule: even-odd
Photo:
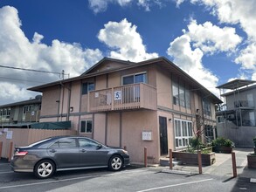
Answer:
[[[174,120],[175,145],[176,147],[186,147],[193,136],[192,122],[189,120]]]

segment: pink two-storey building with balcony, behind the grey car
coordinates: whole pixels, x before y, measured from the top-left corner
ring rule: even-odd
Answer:
[[[40,122],[71,120],[78,134],[128,148],[131,161],[157,163],[169,148],[187,147],[194,130],[214,138],[222,103],[167,58],[139,63],[103,58],[79,77],[35,86],[43,93]]]

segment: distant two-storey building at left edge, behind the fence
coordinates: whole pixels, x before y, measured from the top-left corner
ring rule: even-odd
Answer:
[[[25,125],[27,122],[38,122],[41,110],[42,96],[0,106],[0,126]]]

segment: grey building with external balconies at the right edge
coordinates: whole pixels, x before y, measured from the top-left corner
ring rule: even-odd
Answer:
[[[253,147],[256,136],[256,81],[235,79],[218,86],[221,91],[231,90],[221,96],[225,105],[217,114],[218,136],[231,139],[237,147]],[[251,86],[250,86],[251,85]]]

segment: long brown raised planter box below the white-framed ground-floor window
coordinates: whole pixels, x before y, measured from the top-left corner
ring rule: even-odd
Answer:
[[[182,161],[183,164],[198,165],[197,154],[191,154],[186,152],[172,152],[172,157],[178,161]],[[209,166],[215,163],[215,153],[202,154],[202,165]]]

